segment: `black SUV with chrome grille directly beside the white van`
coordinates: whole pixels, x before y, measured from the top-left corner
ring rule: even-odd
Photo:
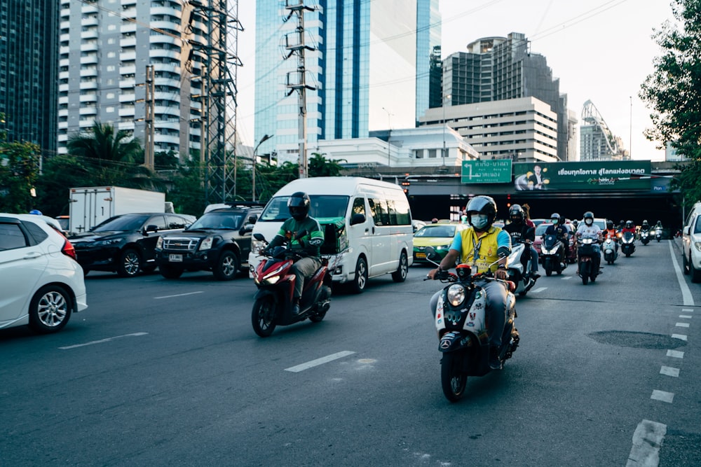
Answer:
[[[161,275],[177,279],[184,271],[212,271],[220,281],[234,279],[247,270],[251,231],[262,210],[261,203],[231,204],[205,211],[178,234],[163,235],[156,245]]]

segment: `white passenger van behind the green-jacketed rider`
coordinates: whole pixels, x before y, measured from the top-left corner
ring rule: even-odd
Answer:
[[[407,279],[414,262],[414,232],[409,201],[400,186],[348,176],[297,179],[268,201],[253,234],[272,240],[290,217],[287,199],[298,191],[309,195],[309,215],[324,228],[321,253],[329,258],[329,266],[335,266],[334,282],[350,283],[355,293],[361,293],[369,277],[391,273],[395,282]],[[248,257],[251,272],[260,261],[261,248],[254,239]]]

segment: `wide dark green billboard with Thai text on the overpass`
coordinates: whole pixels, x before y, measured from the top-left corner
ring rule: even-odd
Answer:
[[[517,162],[514,188],[524,190],[650,190],[649,160]]]

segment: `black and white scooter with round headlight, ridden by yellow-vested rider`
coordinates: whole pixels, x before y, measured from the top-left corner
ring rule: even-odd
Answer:
[[[426,250],[432,263],[438,265],[440,256],[428,246]],[[472,276],[470,265],[461,264],[456,272],[442,271],[436,274],[442,283],[448,284],[441,291],[435,314],[438,332],[438,351],[441,352],[440,380],[444,396],[457,402],[465,394],[470,376],[484,376],[489,368],[489,339],[487,337],[486,296],[479,281],[495,281],[491,274]],[[426,279],[424,279],[426,280]],[[507,298],[507,315],[501,338],[499,358],[502,363],[511,358],[519,345],[516,329],[515,284],[506,281],[510,291]]]

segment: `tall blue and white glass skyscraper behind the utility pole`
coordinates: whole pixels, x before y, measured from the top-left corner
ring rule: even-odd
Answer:
[[[304,13],[301,36],[284,2],[256,2],[255,139],[273,135],[259,153],[275,151],[280,161],[297,161],[300,106],[290,85],[302,81],[309,88],[308,152],[322,139],[416,126],[430,104],[430,57],[440,41],[438,1],[409,0],[401,8],[394,0],[307,5],[313,11]],[[290,54],[300,43],[304,78],[298,57]]]

